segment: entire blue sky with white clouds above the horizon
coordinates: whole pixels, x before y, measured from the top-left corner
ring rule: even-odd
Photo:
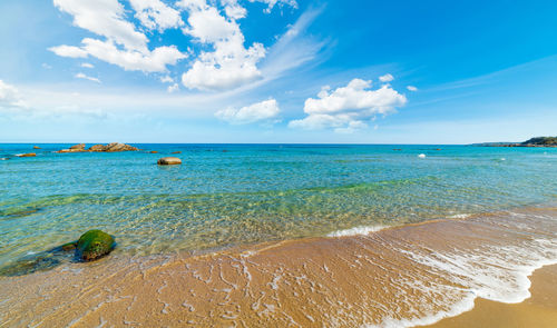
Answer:
[[[556,1],[2,0],[0,142],[557,135]]]

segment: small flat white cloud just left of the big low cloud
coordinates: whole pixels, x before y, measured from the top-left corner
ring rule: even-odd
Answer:
[[[275,123],[278,121],[277,117],[280,112],[278,102],[275,99],[268,99],[241,109],[223,109],[217,111],[215,116],[232,125],[247,125],[253,122]]]

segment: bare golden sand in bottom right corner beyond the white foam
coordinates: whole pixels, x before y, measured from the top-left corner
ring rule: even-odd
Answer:
[[[429,328],[555,328],[557,327],[557,265],[536,270],[530,278],[531,297],[507,305],[477,299],[471,311],[447,318]]]

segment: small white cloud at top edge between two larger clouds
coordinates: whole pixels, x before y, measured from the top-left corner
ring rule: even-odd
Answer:
[[[149,30],[178,28],[184,24],[179,11],[163,3],[160,0],[130,0],[135,17]]]

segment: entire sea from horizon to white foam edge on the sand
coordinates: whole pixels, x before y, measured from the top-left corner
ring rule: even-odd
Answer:
[[[60,287],[67,280],[57,279],[66,272],[82,282],[88,266],[95,277],[108,275],[111,266],[119,268],[108,270],[111,279],[141,271],[145,280],[140,268],[150,264],[157,288],[176,282],[162,279],[160,270],[168,277],[185,272],[192,288],[180,295],[192,297],[197,282],[222,280],[229,282],[225,300],[238,299],[217,316],[209,291],[190,301],[168,296],[163,310],[138,318],[143,322],[157,316],[164,321],[170,314],[184,316],[184,322],[197,318],[202,326],[412,327],[468,310],[477,297],[519,302],[529,295],[528,275],[557,262],[557,148],[145,143],[133,145],[139,151],[57,152],[69,146],[0,143],[0,286],[27,281],[30,288],[19,296],[7,288],[0,292],[6,299],[0,300],[0,319],[4,315],[8,320],[8,312],[12,318],[8,327],[48,327],[53,309],[62,309],[45,305],[42,312],[29,315],[23,305],[33,305],[45,281],[58,286],[51,296],[70,295]],[[37,156],[18,157],[28,152]],[[157,165],[169,156],[182,165]],[[41,260],[89,229],[115,237],[110,256],[94,265],[71,255]],[[252,256],[258,258],[246,264]],[[209,267],[221,274],[202,274]],[[353,282],[334,280],[335,270]],[[379,281],[381,270],[393,276]],[[247,287],[242,288],[242,279]],[[304,279],[315,285],[304,286]],[[111,284],[123,284],[118,290],[124,290],[124,280]],[[116,289],[101,291],[106,281],[96,288],[104,304],[114,299]],[[310,297],[320,288],[326,299]],[[164,289],[157,290],[152,295],[163,295]],[[241,295],[251,301],[240,300]],[[314,307],[295,304],[304,295]],[[401,297],[416,300],[395,305],[393,299]],[[418,306],[420,299],[430,306]],[[129,314],[138,316],[130,307]],[[253,315],[263,310],[266,317]],[[196,311],[203,314],[195,317]],[[111,316],[114,322],[121,320],[117,311],[95,304],[57,318],[87,327],[111,322]]]

